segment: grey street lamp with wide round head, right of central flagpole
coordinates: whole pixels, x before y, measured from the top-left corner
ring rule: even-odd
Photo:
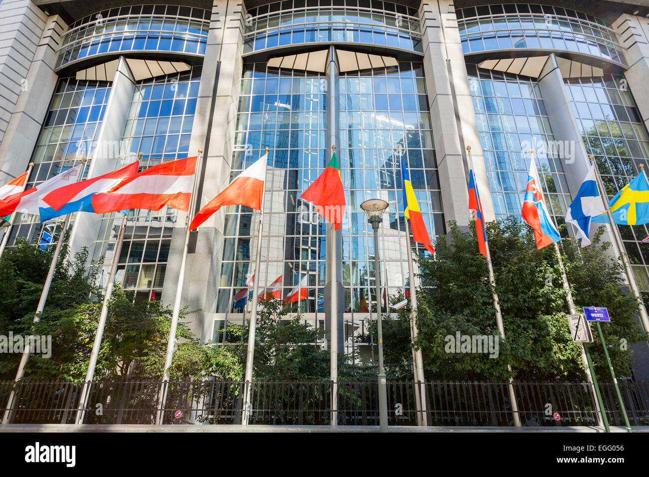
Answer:
[[[367,214],[367,221],[374,230],[374,278],[376,280],[376,326],[378,326],[378,422],[381,432],[387,432],[387,384],[386,370],[383,368],[383,328],[381,326],[381,273],[378,266],[378,225],[382,222],[387,202],[370,199],[361,204]]]

